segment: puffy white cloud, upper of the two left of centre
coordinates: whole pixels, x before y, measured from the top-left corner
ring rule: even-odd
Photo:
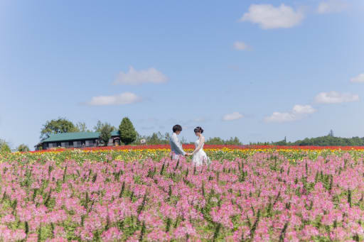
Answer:
[[[152,68],[146,70],[135,70],[129,67],[129,72],[120,72],[114,84],[143,84],[143,83],[163,83],[168,78],[159,70]]]

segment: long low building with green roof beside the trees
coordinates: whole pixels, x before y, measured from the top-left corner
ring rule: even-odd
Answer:
[[[107,143],[108,146],[120,145],[119,131],[112,131],[111,138]],[[34,148],[36,150],[48,150],[50,148],[85,148],[104,146],[100,138],[100,132],[73,132],[73,133],[55,133],[48,138],[43,139]]]

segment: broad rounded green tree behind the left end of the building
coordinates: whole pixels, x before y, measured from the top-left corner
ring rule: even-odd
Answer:
[[[52,119],[43,124],[41,139],[48,138],[52,133],[70,133],[80,130],[71,121],[65,118]]]

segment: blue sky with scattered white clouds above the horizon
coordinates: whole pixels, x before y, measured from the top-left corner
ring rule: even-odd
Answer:
[[[66,117],[243,143],[364,136],[364,2],[0,1],[0,138]]]

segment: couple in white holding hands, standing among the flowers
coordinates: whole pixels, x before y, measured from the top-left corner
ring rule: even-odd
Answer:
[[[172,152],[172,158],[177,160],[180,158],[181,155],[183,156],[189,156],[192,155],[192,163],[195,165],[203,165],[203,163],[209,164],[210,158],[206,155],[205,151],[203,151],[203,145],[205,144],[205,137],[203,137],[203,129],[198,126],[193,131],[195,132],[195,135],[198,137],[197,141],[195,141],[195,150],[193,150],[193,153],[186,153],[181,145],[181,142],[178,141],[178,135],[182,131],[182,127],[179,124],[176,124],[172,128],[173,134],[169,140],[169,143],[171,144],[171,152]]]

